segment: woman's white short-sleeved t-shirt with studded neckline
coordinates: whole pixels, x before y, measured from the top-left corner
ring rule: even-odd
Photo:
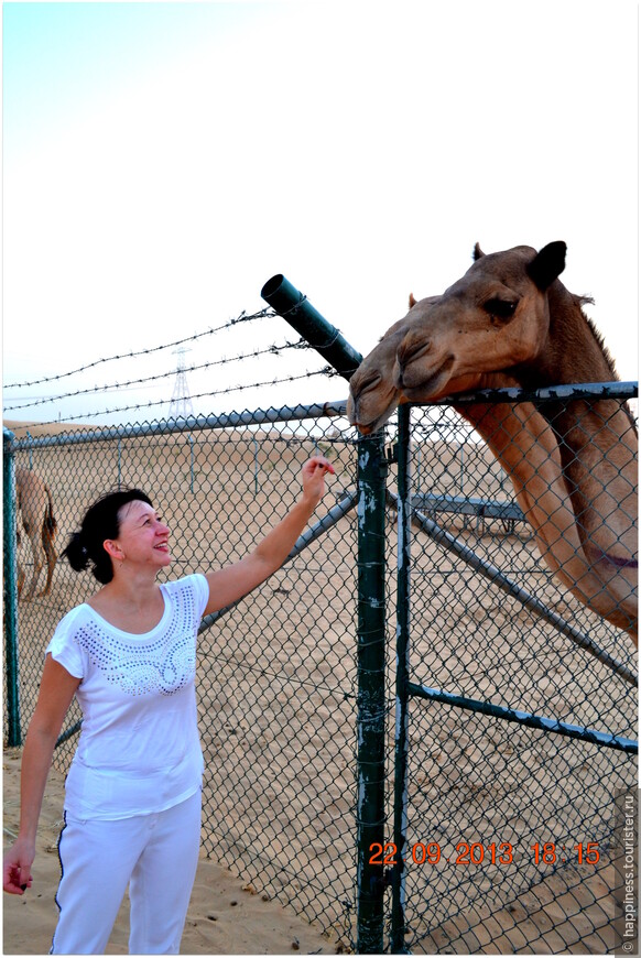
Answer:
[[[196,641],[209,587],[193,575],[160,588],[165,608],[151,632],[122,632],[84,603],[46,649],[80,679],[83,726],[65,783],[77,818],[163,812],[200,788]]]

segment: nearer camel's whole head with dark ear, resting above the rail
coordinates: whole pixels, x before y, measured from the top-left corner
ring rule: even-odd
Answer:
[[[565,243],[514,247],[475,262],[413,322],[396,349],[393,382],[405,400],[433,402],[479,388],[484,374],[531,362],[550,329],[547,290],[565,266]],[[420,305],[420,304],[419,304]]]

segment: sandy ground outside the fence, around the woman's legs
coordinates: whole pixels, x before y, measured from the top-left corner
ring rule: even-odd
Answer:
[[[3,845],[18,827],[21,751],[4,753]],[[55,928],[54,895],[59,880],[56,850],[63,814],[63,776],[52,770],[41,816],[33,886],[22,897],[3,897],[3,954],[46,955]],[[127,955],[128,903],[123,902],[108,955]],[[187,914],[183,955],[328,955],[336,945],[307,922],[205,858],[198,866]]]

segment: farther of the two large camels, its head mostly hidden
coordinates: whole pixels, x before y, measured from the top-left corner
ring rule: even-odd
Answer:
[[[482,255],[478,248],[476,252],[477,258]],[[535,255],[534,251],[531,252]],[[396,352],[400,360],[403,356],[402,345],[415,342],[426,328],[433,327],[433,320],[437,320],[448,292],[444,297],[430,297],[420,303],[411,297],[408,316],[388,330],[351,378],[348,416],[362,433],[369,434],[379,428],[400,402],[437,398],[431,392],[433,379],[427,383],[425,393],[416,385],[408,390],[411,395],[406,395],[405,389],[398,384],[399,379],[394,383],[393,367],[396,367],[395,374],[399,377]],[[439,396],[521,384],[514,370],[509,373],[474,372],[470,368],[458,368],[454,362],[449,363],[449,369],[452,378],[446,380],[447,387],[439,392]],[[607,379],[613,378],[613,369],[608,367]],[[615,406],[618,410],[620,404],[615,402]],[[576,521],[574,501],[564,478],[564,443],[559,444],[547,420],[532,403],[461,403],[454,404],[454,409],[486,439],[510,476],[517,499],[534,531],[541,555],[551,569],[583,603],[628,631],[635,640],[635,576],[632,564],[626,562],[622,565],[611,558],[604,560],[601,552],[595,560],[594,552],[584,549],[582,523]],[[630,429],[627,416],[626,423]],[[626,460],[628,458],[633,460],[630,454],[623,457]],[[630,472],[629,469],[628,479]],[[629,494],[630,489],[627,492]],[[591,494],[602,507],[602,489],[597,487]],[[628,508],[632,509],[633,503],[627,497]],[[607,518],[611,525],[611,513],[607,513]],[[632,518],[628,518],[627,525],[632,525]],[[629,537],[627,542],[630,542]]]

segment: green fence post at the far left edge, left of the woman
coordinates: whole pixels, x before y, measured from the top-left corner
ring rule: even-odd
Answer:
[[[14,435],[2,429],[2,520],[4,577],[4,650],[7,668],[7,744],[22,744],[18,673],[18,588],[15,583],[15,464]]]

